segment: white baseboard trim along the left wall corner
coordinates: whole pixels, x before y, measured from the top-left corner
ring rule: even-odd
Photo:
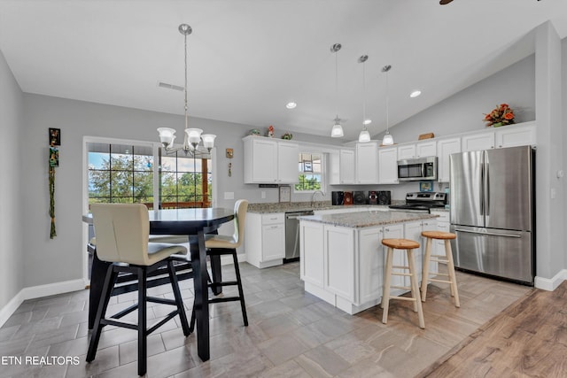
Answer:
[[[85,289],[85,282],[83,279],[48,283],[47,285],[32,286],[30,288],[21,289],[18,294],[12,297],[7,305],[4,305],[4,307],[0,309],[0,327],[4,326],[4,323],[10,319],[16,310],[18,310],[19,305],[27,299],[49,297],[82,289]]]

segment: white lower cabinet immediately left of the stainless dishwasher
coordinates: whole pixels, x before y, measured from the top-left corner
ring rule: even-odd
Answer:
[[[283,264],[285,258],[285,216],[283,212],[249,212],[245,228],[246,261],[264,268]]]

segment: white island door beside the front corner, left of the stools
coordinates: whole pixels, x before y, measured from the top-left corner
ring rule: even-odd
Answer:
[[[354,230],[324,226],[324,289],[354,301]]]

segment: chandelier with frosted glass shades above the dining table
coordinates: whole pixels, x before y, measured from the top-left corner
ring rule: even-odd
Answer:
[[[203,134],[203,130],[200,128],[190,128],[189,127],[189,116],[187,115],[187,35],[190,35],[193,30],[187,24],[181,24],[179,26],[179,33],[185,37],[185,135],[183,138],[183,145],[175,146],[175,128],[171,127],[159,127],[159,142],[163,145],[167,153],[173,153],[178,150],[183,150],[185,155],[188,153],[191,156],[195,156],[197,153],[210,153],[214,147],[214,138],[216,135],[213,134]],[[205,151],[198,150],[199,143],[203,141],[203,147]]]

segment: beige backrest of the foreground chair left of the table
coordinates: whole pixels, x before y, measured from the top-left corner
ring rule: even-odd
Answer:
[[[97,257],[103,261],[150,265],[150,220],[144,204],[91,204]]]

